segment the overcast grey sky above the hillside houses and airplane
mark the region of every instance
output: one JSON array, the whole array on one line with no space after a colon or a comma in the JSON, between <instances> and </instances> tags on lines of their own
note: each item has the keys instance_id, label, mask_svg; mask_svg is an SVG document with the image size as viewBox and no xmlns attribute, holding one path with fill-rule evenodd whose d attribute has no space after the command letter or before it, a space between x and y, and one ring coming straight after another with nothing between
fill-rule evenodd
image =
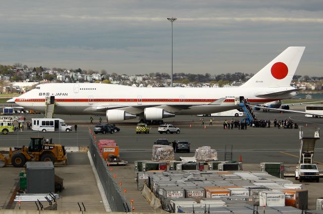
<instances>
[{"instance_id":1,"label":"overcast grey sky above the hillside houses and airplane","mask_svg":"<svg viewBox=\"0 0 323 214\"><path fill-rule=\"evenodd\" d=\"M321 0L3 0L0 64L117 74L256 73L306 46L297 75L323 76Z\"/></svg>"}]
</instances>

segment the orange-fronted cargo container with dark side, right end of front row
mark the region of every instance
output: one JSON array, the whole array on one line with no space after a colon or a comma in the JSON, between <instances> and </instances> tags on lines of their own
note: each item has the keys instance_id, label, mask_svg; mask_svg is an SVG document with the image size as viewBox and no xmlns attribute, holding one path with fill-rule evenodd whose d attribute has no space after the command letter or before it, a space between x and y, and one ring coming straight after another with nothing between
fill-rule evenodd
<instances>
[{"instance_id":1,"label":"orange-fronted cargo container with dark side, right end of front row","mask_svg":"<svg viewBox=\"0 0 323 214\"><path fill-rule=\"evenodd\" d=\"M307 209L308 191L305 189L284 189L285 205L294 206L299 209Z\"/></svg>"}]
</instances>

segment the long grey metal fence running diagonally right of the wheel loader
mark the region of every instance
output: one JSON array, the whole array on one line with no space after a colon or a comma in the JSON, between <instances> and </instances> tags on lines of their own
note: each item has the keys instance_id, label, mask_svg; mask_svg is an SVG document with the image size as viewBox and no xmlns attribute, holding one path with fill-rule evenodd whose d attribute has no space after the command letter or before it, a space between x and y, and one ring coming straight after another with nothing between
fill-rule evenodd
<instances>
[{"instance_id":1,"label":"long grey metal fence running diagonally right of the wheel loader","mask_svg":"<svg viewBox=\"0 0 323 214\"><path fill-rule=\"evenodd\" d=\"M96 139L91 130L89 138L89 151L111 210L119 212L131 211L125 197L122 196L119 185L114 181L109 167L107 167L106 162L99 153Z\"/></svg>"}]
</instances>

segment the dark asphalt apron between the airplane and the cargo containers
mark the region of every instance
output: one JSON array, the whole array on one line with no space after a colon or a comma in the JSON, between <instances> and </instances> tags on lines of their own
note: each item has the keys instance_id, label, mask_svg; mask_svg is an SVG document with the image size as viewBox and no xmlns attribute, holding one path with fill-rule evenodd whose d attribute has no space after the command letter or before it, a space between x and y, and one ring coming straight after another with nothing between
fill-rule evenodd
<instances>
[{"instance_id":1,"label":"dark asphalt apron between the airplane and the cargo containers","mask_svg":"<svg viewBox=\"0 0 323 214\"><path fill-rule=\"evenodd\" d=\"M303 107L293 107L293 109L302 110ZM27 119L35 115L27 115ZM41 115L38 117L41 117ZM88 124L90 116L83 115L56 115L56 117L65 119L70 125L76 122L79 124L78 132L32 132L23 131L8 135L0 135L0 147L14 147L29 144L29 137L44 136L52 137L55 142L66 146L88 145L88 128L93 128L92 124ZM302 114L296 113L279 113L279 112L258 112L257 117L260 119L275 118L293 119L300 125L307 124L304 127L304 134L310 136L314 134L315 127L323 126L323 119L307 118ZM216 122L213 126L208 126L209 117L205 117L206 129L203 129L199 117L196 116L178 116L169 118L165 121L174 122L181 128L180 134L159 134L157 126L153 126L149 134L136 134L135 124L126 123L119 124L121 131L115 134L97 134L97 138L115 139L120 146L121 157L132 163L136 160L150 160L151 148L153 142L158 138L167 138L170 141L178 139L186 139L191 142L191 153L176 154L176 158L180 156L193 156L194 150L201 146L211 146L218 151L219 160L224 160L225 145L233 145L233 159L238 160L242 156L244 163L260 163L260 162L284 162L286 164L295 164L298 161L299 154L299 132L298 129L278 129L278 128L250 128L247 130L238 129L223 129L222 123L225 119L232 117L216 117ZM94 117L94 120L98 117ZM102 119L104 119L102 117ZM233 119L236 119L235 117ZM240 117L240 119L242 119ZM135 122L135 121L133 121ZM192 125L190 128L189 125ZM214 125L215 124L215 125ZM314 160L322 162L323 160L323 145L318 140L316 144L316 152Z\"/></svg>"}]
</instances>

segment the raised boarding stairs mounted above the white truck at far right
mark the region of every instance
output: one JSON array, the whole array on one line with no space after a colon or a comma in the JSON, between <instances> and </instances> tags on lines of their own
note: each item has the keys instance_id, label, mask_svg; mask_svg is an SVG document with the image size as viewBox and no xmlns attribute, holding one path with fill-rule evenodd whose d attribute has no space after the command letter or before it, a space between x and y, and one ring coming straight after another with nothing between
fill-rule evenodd
<instances>
[{"instance_id":1,"label":"raised boarding stairs mounted above the white truck at far right","mask_svg":"<svg viewBox=\"0 0 323 214\"><path fill-rule=\"evenodd\" d=\"M314 132L314 137L304 137L302 127L299 128L299 139L300 149L299 149L299 164L312 164L315 142L319 139L319 128Z\"/></svg>"}]
</instances>

